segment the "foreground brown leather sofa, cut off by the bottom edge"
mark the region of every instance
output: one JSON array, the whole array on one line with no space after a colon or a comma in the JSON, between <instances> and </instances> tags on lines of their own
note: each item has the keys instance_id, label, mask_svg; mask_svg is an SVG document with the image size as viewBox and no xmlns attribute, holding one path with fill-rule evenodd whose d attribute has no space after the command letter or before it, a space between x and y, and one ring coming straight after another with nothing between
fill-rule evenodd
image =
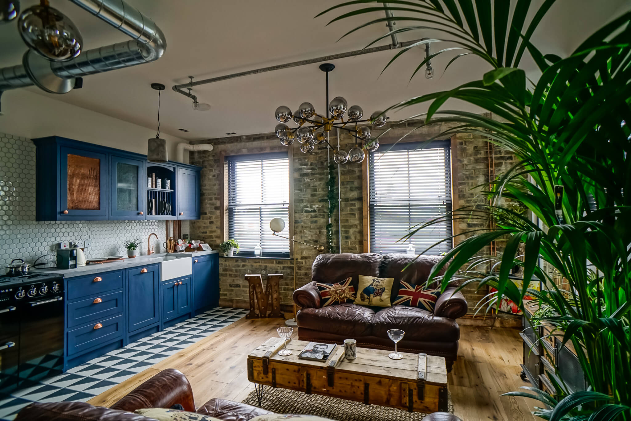
<instances>
[{"instance_id":1,"label":"foreground brown leather sofa, cut off by the bottom edge","mask_svg":"<svg viewBox=\"0 0 631 421\"><path fill-rule=\"evenodd\" d=\"M167 369L145 381L111 408L85 402L32 403L18 413L15 421L155 421L134 413L134 410L170 408L177 403L184 406L184 410L195 412L193 391L186 376L175 369ZM271 412L245 403L211 399L200 406L197 413L223 421L248 421ZM451 413L435 412L423 421L462 420Z\"/></svg>"}]
</instances>

